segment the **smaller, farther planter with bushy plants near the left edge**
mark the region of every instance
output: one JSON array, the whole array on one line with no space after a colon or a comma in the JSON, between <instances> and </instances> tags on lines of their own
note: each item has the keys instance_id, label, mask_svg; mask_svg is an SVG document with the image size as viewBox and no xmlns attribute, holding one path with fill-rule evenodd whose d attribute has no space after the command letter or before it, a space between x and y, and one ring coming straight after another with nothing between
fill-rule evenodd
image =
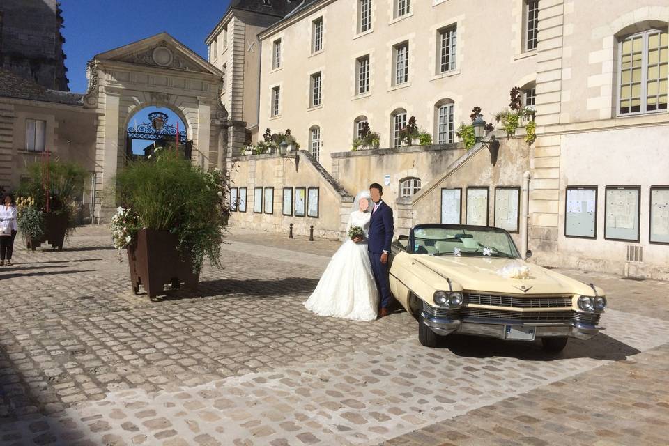
<instances>
[{"instance_id":1,"label":"smaller, farther planter with bushy plants near the left edge","mask_svg":"<svg viewBox=\"0 0 669 446\"><path fill-rule=\"evenodd\" d=\"M17 224L26 246L34 251L49 243L54 249L63 249L74 230L74 199L82 193L88 172L75 162L49 160L31 164L27 173L16 191L22 203Z\"/></svg>"}]
</instances>

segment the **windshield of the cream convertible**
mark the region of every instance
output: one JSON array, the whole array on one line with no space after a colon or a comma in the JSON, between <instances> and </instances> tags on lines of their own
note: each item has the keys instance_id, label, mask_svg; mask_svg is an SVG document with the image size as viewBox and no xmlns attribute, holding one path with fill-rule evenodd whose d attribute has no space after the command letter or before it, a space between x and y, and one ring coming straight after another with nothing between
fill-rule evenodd
<instances>
[{"instance_id":1,"label":"windshield of the cream convertible","mask_svg":"<svg viewBox=\"0 0 669 446\"><path fill-rule=\"evenodd\" d=\"M518 259L518 249L505 231L482 226L415 227L413 252L435 256L491 256Z\"/></svg>"}]
</instances>

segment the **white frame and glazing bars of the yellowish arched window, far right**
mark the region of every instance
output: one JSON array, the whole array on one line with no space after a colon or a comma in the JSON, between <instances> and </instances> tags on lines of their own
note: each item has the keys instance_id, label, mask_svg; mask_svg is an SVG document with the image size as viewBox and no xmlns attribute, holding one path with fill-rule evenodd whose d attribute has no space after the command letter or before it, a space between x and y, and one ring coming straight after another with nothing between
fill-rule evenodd
<instances>
[{"instance_id":1,"label":"white frame and glazing bars of the yellowish arched window, far right","mask_svg":"<svg viewBox=\"0 0 669 446\"><path fill-rule=\"evenodd\" d=\"M661 46L661 36L662 34L665 33L667 34L668 31L666 29L660 30L660 29L647 29L646 31L640 32L640 33L635 33L632 34L631 36L626 36L626 38L621 39L620 42L618 42L618 82L617 82L617 95L616 95L616 114L619 116L635 116L639 114L653 114L653 113L663 113L667 111L667 100L665 100L665 107L660 108L659 107L659 99L661 96L667 96L669 94L669 91L665 89L662 92L660 91L660 83L663 81L665 86L667 85L667 78L661 78L659 77L659 74L661 72L661 66L667 65L667 62L661 63L660 59L660 52L662 49L665 49L666 47ZM649 52L651 51L651 48L649 48L649 37L652 35L658 35L659 36L659 46L656 48L658 50L658 60L656 63L650 63L649 61ZM630 96L629 100L631 101L633 98L631 97L631 90L632 90L632 85L636 84L636 82L633 82L632 79L632 73L630 72L630 80L626 84L623 84L622 82L622 77L623 77L623 54L622 54L622 47L623 44L627 40L633 40L633 39L641 39L641 78L640 78L640 105L639 105L639 111L638 112L622 112L622 88L623 86L629 86L630 89ZM669 36L668 36L669 39ZM633 45L633 43L632 43ZM669 49L667 49L669 51ZM632 52L630 55L633 55L634 50L632 49ZM654 95L656 100L656 106L657 108L654 110L648 110L648 82L649 82L649 77L648 77L648 72L651 68L656 67L657 68L657 77L653 79L654 82L657 82L658 84L658 91L657 94ZM629 109L631 110L631 103Z\"/></svg>"}]
</instances>

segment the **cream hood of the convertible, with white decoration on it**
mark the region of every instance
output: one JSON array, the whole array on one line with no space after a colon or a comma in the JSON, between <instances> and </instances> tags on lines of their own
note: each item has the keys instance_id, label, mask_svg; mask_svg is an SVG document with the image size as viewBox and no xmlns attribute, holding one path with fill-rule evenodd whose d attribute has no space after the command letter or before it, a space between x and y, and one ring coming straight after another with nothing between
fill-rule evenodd
<instances>
[{"instance_id":1,"label":"cream hood of the convertible, with white decoration on it","mask_svg":"<svg viewBox=\"0 0 669 446\"><path fill-rule=\"evenodd\" d=\"M413 260L415 264L422 265L443 279L451 279L454 282L454 289L459 285L463 290L490 293L594 295L592 288L587 284L521 259L416 254ZM527 278L506 277L502 272L505 267L509 269L518 266L529 269ZM598 288L597 293L603 295L603 290Z\"/></svg>"}]
</instances>

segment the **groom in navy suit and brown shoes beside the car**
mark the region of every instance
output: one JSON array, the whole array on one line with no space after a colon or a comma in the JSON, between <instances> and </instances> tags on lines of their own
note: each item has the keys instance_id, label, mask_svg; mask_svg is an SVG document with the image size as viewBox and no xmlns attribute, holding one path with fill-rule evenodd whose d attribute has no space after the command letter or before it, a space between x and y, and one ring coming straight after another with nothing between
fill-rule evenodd
<instances>
[{"instance_id":1,"label":"groom in navy suit and brown shoes beside the car","mask_svg":"<svg viewBox=\"0 0 669 446\"><path fill-rule=\"evenodd\" d=\"M374 208L371 210L369 220L369 238L367 240L367 249L369 250L369 260L371 261L371 270L374 272L376 288L381 297L379 316L384 317L390 314L390 284L388 283L388 256L390 255L390 241L394 226L392 224L392 209L383 202L383 187L378 183L372 183L369 186L371 201L374 201Z\"/></svg>"}]
</instances>

